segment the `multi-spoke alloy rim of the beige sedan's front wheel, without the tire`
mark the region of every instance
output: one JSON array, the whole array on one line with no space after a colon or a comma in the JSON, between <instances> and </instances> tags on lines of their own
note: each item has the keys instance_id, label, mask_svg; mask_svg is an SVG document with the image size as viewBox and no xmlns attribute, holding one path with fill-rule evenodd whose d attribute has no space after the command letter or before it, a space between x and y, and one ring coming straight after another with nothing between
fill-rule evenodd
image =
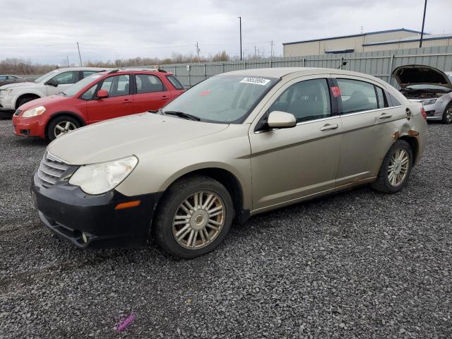
<instances>
[{"instance_id":1,"label":"multi-spoke alloy rim of the beige sedan's front wheel, without the tire","mask_svg":"<svg viewBox=\"0 0 452 339\"><path fill-rule=\"evenodd\" d=\"M197 191L174 214L172 234L186 249L201 249L218 237L225 224L225 203L212 191Z\"/></svg>"}]
</instances>

